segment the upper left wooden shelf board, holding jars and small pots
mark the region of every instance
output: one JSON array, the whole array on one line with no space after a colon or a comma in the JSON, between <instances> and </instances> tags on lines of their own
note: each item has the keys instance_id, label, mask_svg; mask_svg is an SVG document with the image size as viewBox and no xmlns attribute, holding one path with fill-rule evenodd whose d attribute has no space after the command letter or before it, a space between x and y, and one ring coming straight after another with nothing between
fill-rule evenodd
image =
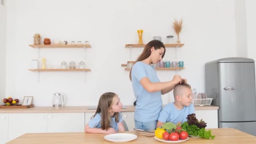
<instances>
[{"instance_id":1,"label":"upper left wooden shelf board, holding jars and small pots","mask_svg":"<svg viewBox=\"0 0 256 144\"><path fill-rule=\"evenodd\" d=\"M91 48L91 45L29 45L32 48Z\"/></svg>"}]
</instances>

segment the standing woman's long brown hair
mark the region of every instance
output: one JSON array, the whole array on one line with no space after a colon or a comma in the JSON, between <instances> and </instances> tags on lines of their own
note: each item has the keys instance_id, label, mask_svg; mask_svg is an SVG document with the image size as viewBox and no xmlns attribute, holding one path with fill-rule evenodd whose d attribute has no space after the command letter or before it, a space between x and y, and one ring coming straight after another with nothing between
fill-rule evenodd
<instances>
[{"instance_id":1,"label":"standing woman's long brown hair","mask_svg":"<svg viewBox=\"0 0 256 144\"><path fill-rule=\"evenodd\" d=\"M147 45L145 46L143 52L141 53L139 58L135 61L135 63L138 62L138 61L142 61L144 59L147 59L150 56L150 54L151 54L151 48L152 47L154 47L155 50L160 49L160 48L164 48L165 49L165 45L163 45L163 43L161 41L159 41L159 40L151 40L149 43L147 43ZM165 51L163 52L162 59L163 59L164 56L165 56ZM131 80L131 71L130 71L130 80Z\"/></svg>"}]
</instances>

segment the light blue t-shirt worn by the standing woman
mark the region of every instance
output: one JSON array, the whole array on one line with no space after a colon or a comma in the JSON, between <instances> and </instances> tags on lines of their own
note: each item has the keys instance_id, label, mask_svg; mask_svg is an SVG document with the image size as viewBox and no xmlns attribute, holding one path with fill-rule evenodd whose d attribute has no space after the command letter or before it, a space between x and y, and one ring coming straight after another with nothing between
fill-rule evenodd
<instances>
[{"instance_id":1,"label":"light blue t-shirt worn by the standing woman","mask_svg":"<svg viewBox=\"0 0 256 144\"><path fill-rule=\"evenodd\" d=\"M134 120L140 122L156 121L162 109L161 91L148 92L141 83L141 78L147 77L152 83L159 83L155 68L149 64L138 61L131 70L133 91L137 99Z\"/></svg>"}]
</instances>

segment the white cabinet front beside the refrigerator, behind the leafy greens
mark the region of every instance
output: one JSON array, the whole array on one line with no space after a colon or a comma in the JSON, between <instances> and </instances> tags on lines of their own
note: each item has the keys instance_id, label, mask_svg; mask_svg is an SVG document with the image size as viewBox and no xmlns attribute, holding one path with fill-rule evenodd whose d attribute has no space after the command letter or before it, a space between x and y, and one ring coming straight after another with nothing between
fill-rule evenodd
<instances>
[{"instance_id":1,"label":"white cabinet front beside the refrigerator, behind the leafy greens","mask_svg":"<svg viewBox=\"0 0 256 144\"><path fill-rule=\"evenodd\" d=\"M218 128L218 110L196 110L197 120L203 119L207 123L206 128Z\"/></svg>"}]
</instances>

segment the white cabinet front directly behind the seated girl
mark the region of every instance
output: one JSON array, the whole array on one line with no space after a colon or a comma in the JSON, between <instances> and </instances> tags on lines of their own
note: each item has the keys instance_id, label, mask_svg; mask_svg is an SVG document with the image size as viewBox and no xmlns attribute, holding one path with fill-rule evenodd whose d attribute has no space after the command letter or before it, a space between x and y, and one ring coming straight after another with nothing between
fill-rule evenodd
<instances>
[{"instance_id":1,"label":"white cabinet front directly behind the seated girl","mask_svg":"<svg viewBox=\"0 0 256 144\"><path fill-rule=\"evenodd\" d=\"M95 112L86 112L85 113L85 125L91 120L91 117L95 114ZM133 131L135 128L134 124L134 112L122 112L122 118L125 120L125 123L129 129L129 131Z\"/></svg>"}]
</instances>

